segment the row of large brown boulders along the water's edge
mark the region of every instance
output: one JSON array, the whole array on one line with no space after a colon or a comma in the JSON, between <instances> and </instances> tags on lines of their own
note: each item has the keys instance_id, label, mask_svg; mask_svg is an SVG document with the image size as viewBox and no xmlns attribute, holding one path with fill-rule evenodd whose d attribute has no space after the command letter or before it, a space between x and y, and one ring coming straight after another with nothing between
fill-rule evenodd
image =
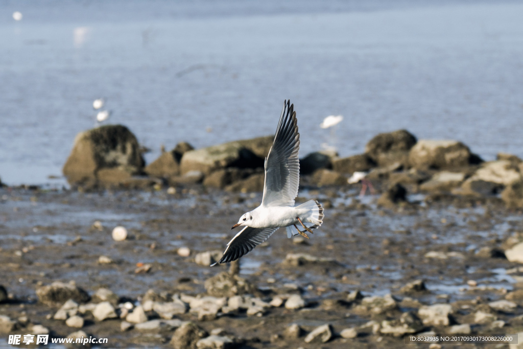
<instances>
[{"instance_id":1,"label":"row of large brown boulders along the water's edge","mask_svg":"<svg viewBox=\"0 0 523 349\"><path fill-rule=\"evenodd\" d=\"M108 125L78 134L64 165L68 181L78 187L150 187L201 184L233 192L260 192L264 158L272 136L194 149L181 142L145 166L136 137L126 127ZM454 140L417 140L406 130L380 133L363 154L339 157L314 152L300 159L302 185L349 185L355 172L368 172L380 183L386 206L405 201L408 192L493 196L502 193L510 207L523 207L523 161L498 154L484 162L467 145Z\"/></svg>"}]
</instances>

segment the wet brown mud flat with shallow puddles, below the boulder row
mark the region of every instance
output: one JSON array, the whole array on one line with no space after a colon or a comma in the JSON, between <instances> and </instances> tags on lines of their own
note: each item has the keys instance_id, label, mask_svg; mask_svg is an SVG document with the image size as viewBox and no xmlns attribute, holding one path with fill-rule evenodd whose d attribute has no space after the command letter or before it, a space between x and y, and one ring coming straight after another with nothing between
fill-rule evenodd
<instances>
[{"instance_id":1,"label":"wet brown mud flat with shallow puddles, below the boulder row","mask_svg":"<svg viewBox=\"0 0 523 349\"><path fill-rule=\"evenodd\" d=\"M117 309L126 302L143 306L152 294L169 302L174 295L188 306L172 319L208 333L222 329L214 333L233 339L224 347L400 348L409 333L523 330L523 268L504 256L523 238L521 212L495 197L451 195L411 195L406 203L382 208L377 196L358 193L358 185L301 190L298 202L323 202L321 229L310 240L287 239L279 230L240 261L239 277L253 285L263 310L231 310L231 297L217 297L209 298L219 303L214 314L200 316L191 297L207 296L206 280L228 266L211 268L195 257L223 251L236 233L230 227L259 205L260 193L0 188L0 285L8 293L0 316L15 324L10 334L41 324L51 336L65 337L79 329L53 319L61 305L42 302L36 290L73 281L93 297L87 308L100 288L117 295ZM116 226L127 228L127 240L112 239ZM179 255L180 247L190 255ZM293 295L298 306L287 307ZM165 318L155 310L145 313L149 321ZM117 315L98 321L86 311L81 330L108 337L101 347L176 347L170 342L176 325L135 324L122 331L125 317ZM298 327L289 330L293 324ZM328 331L308 337L322 325Z\"/></svg>"}]
</instances>

